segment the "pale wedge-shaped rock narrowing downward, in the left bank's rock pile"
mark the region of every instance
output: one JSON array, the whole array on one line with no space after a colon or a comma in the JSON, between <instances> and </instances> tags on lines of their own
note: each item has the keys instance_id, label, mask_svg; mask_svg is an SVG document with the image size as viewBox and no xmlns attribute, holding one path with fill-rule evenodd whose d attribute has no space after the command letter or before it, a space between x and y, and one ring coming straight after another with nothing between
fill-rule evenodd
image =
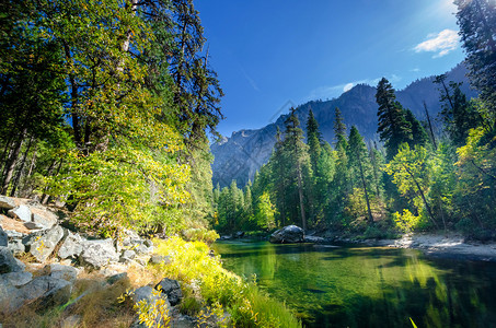
<instances>
[{"instance_id":1,"label":"pale wedge-shaped rock narrowing downward, in the left bank's rock pile","mask_svg":"<svg viewBox=\"0 0 496 328\"><path fill-rule=\"evenodd\" d=\"M44 262L54 251L57 244L62 239L65 234L60 225L53 229L32 233L22 239L30 251L37 261Z\"/></svg>"}]
</instances>

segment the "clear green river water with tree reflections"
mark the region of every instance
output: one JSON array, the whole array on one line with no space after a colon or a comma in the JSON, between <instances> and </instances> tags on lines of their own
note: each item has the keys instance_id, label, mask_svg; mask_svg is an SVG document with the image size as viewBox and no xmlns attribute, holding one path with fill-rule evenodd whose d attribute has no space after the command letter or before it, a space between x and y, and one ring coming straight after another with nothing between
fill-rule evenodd
<instances>
[{"instance_id":1,"label":"clear green river water with tree reflections","mask_svg":"<svg viewBox=\"0 0 496 328\"><path fill-rule=\"evenodd\" d=\"M496 327L496 263L414 249L218 242L224 268L256 274L305 327Z\"/></svg>"}]
</instances>

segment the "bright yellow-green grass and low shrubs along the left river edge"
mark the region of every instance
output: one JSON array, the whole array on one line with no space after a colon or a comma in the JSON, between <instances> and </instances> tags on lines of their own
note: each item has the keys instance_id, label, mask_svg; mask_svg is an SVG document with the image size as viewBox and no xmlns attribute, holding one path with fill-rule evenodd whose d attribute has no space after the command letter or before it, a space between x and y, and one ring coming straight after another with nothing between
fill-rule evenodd
<instances>
[{"instance_id":1,"label":"bright yellow-green grass and low shrubs along the left river edge","mask_svg":"<svg viewBox=\"0 0 496 328\"><path fill-rule=\"evenodd\" d=\"M205 302L203 305L212 312L226 309L235 327L301 327L285 304L223 269L219 257L212 257L206 244L178 237L154 243L157 253L169 255L172 262L153 266L153 269L183 282L185 311L193 313Z\"/></svg>"}]
</instances>

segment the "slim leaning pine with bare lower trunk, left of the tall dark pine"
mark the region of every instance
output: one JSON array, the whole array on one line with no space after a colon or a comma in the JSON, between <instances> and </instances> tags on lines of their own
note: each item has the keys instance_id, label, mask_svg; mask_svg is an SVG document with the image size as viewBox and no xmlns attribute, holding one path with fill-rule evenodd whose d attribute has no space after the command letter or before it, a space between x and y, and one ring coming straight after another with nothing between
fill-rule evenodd
<instances>
[{"instance_id":1,"label":"slim leaning pine with bare lower trunk, left of the tall dark pine","mask_svg":"<svg viewBox=\"0 0 496 328\"><path fill-rule=\"evenodd\" d=\"M360 136L358 129L353 126L351 130L349 131L348 138L348 157L349 157L349 165L356 172L358 176L361 187L364 189L364 195L367 203L367 213L369 224L373 224L373 216L372 211L370 209L370 199L369 199L369 179L371 173L371 165L369 162L369 155L367 145L364 142L364 137Z\"/></svg>"}]
</instances>

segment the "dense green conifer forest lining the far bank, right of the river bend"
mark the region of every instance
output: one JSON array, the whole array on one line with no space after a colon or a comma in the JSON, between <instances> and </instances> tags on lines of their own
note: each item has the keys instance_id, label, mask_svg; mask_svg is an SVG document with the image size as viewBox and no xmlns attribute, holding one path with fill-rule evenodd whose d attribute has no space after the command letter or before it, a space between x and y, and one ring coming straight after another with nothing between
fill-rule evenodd
<instances>
[{"instance_id":1,"label":"dense green conifer forest lining the far bank, right of the river bend","mask_svg":"<svg viewBox=\"0 0 496 328\"><path fill-rule=\"evenodd\" d=\"M419 121L377 85L380 142L365 142L335 108L335 140L319 131L312 112L307 136L292 108L270 160L253 184L214 190L215 226L224 233L288 224L367 238L414 231L459 231L492 239L496 222L496 13L491 1L455 1L471 86L436 77L440 117ZM434 120L443 131L434 132Z\"/></svg>"}]
</instances>

